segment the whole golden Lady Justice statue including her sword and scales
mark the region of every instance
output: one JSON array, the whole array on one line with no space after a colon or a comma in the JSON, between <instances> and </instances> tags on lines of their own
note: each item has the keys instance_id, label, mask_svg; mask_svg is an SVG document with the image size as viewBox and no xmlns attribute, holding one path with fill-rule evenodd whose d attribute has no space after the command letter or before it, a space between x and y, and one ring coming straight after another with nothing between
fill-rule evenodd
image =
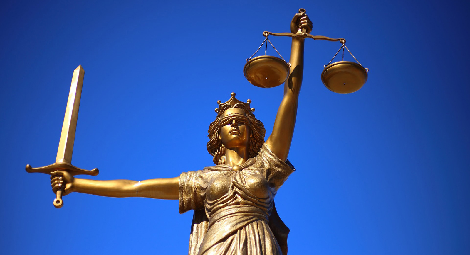
<instances>
[{"instance_id":1,"label":"whole golden Lady Justice statue including her sword and scales","mask_svg":"<svg viewBox=\"0 0 470 255\"><path fill-rule=\"evenodd\" d=\"M98 169L87 171L71 165L84 75L79 66L72 78L56 163L41 168L27 165L26 171L51 175L57 208L63 205L62 196L71 192L179 200L180 213L194 211L189 255L286 255L289 228L276 212L274 197L295 171L287 157L303 79L305 38L340 41L340 50L345 47L343 38L312 36L311 31L312 22L305 9L299 9L290 22L290 33L263 33L266 46L268 35L292 37L289 63L261 56L247 59L244 67L246 78L256 86L274 87L285 82L272 133L265 140L266 129L253 114L251 100L239 101L231 93L227 102L217 102L217 116L209 125L207 150L214 166L169 179L75 178L77 174L98 174ZM325 66L322 80L334 92L351 93L367 81L366 69L340 61Z\"/></svg>"}]
</instances>

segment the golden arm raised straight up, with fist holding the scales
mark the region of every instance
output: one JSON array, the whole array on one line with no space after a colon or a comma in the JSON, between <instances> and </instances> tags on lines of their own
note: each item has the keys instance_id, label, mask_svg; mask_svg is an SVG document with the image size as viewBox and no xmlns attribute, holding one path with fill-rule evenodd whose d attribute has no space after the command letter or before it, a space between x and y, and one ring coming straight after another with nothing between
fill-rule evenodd
<instances>
[{"instance_id":1,"label":"golden arm raised straight up, with fist holding the scales","mask_svg":"<svg viewBox=\"0 0 470 255\"><path fill-rule=\"evenodd\" d=\"M291 33L312 31L312 22L305 13L298 13L290 22ZM293 37L290 49L290 74L284 84L284 98L277 111L273 132L266 140L266 145L282 160L287 160L290 142L294 134L297 116L298 95L304 75L304 37Z\"/></svg>"}]
</instances>

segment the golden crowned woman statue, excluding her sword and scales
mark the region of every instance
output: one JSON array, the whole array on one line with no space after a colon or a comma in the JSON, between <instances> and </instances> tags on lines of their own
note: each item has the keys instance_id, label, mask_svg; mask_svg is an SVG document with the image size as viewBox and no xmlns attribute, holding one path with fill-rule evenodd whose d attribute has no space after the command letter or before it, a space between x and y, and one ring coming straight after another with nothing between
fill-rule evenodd
<instances>
[{"instance_id":1,"label":"golden crowned woman statue, excluding her sword and scales","mask_svg":"<svg viewBox=\"0 0 470 255\"><path fill-rule=\"evenodd\" d=\"M311 30L305 12L294 15L291 33ZM78 179L56 170L51 173L53 191L179 200L180 213L194 210L190 255L286 255L289 229L277 216L273 199L295 170L287 156L303 77L304 40L292 37L290 73L266 142L266 130L253 115L251 100L241 102L232 93L227 102L218 101L217 117L209 126L207 150L216 165L179 177L141 181Z\"/></svg>"}]
</instances>

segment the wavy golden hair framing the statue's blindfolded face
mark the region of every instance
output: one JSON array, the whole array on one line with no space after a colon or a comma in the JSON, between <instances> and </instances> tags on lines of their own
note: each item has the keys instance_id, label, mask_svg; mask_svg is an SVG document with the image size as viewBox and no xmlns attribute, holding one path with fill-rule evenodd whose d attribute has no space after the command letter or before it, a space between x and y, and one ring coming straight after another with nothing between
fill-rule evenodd
<instances>
[{"instance_id":1,"label":"wavy golden hair framing the statue's blindfolded face","mask_svg":"<svg viewBox=\"0 0 470 255\"><path fill-rule=\"evenodd\" d=\"M248 157L254 158L258 155L259 149L263 146L264 137L266 135L266 129L264 128L263 122L256 119L255 115L251 112L247 112L243 107L236 107L242 109L246 113L246 117L248 117L249 126L251 130L251 137L248 142ZM227 110L226 108L224 110ZM223 111L225 112L225 111ZM217 117L214 121L209 125L209 130L207 135L209 137L209 142L207 142L207 151L214 157L212 160L214 164L220 165L225 164L225 146L220 141L220 120L222 120L222 111L217 114Z\"/></svg>"}]
</instances>

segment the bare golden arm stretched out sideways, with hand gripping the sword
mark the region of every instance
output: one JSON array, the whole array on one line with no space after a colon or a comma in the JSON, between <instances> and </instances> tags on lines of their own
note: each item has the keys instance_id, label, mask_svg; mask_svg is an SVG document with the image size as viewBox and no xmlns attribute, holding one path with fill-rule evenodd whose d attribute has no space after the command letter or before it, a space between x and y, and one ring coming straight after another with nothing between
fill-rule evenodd
<instances>
[{"instance_id":1,"label":"bare golden arm stretched out sideways, with hand gripping the sword","mask_svg":"<svg viewBox=\"0 0 470 255\"><path fill-rule=\"evenodd\" d=\"M87 180L74 178L70 173L55 171L51 176L52 190L65 185L63 195L71 192L110 197L149 197L179 199L179 177L151 180Z\"/></svg>"}]
</instances>

